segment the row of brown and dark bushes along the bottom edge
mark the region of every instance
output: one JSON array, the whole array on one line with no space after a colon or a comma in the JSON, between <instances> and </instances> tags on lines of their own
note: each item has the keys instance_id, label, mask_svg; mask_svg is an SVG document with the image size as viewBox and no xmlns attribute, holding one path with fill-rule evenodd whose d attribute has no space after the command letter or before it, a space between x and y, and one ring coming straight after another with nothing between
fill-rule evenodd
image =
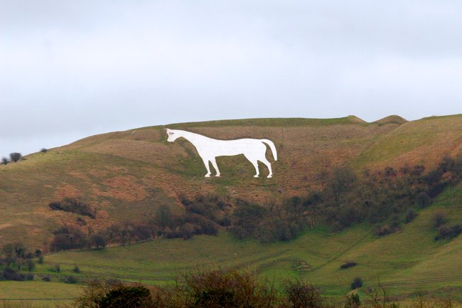
<instances>
[{"instance_id":1,"label":"row of brown and dark bushes along the bottom edge","mask_svg":"<svg viewBox=\"0 0 462 308\"><path fill-rule=\"evenodd\" d=\"M361 281L362 282L362 281ZM292 280L284 292L275 292L272 284L256 275L236 270L192 272L167 287L124 284L118 280L92 281L72 308L397 308L387 290L363 287L362 299L351 292L341 302L322 297L321 290ZM335 300L335 302L333 301ZM419 297L402 307L455 307L451 299L443 301Z\"/></svg>"}]
</instances>

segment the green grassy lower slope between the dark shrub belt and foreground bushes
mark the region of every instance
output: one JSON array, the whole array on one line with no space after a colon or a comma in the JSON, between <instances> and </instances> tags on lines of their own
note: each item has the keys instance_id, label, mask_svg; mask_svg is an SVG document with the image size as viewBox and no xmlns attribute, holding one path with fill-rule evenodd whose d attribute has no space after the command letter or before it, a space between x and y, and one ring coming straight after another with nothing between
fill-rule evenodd
<instances>
[{"instance_id":1,"label":"green grassy lower slope between the dark shrub belt and foreground bushes","mask_svg":"<svg viewBox=\"0 0 462 308\"><path fill-rule=\"evenodd\" d=\"M412 223L383 238L372 235L368 225L341 233L308 230L289 243L269 244L237 240L223 231L190 240L50 254L35 272L51 275L52 282L2 282L0 297L72 297L79 286L60 282L68 275L81 281L104 277L165 285L190 270L239 268L256 272L276 286L291 278L306 280L321 287L326 296L342 297L350 292L353 278L361 277L365 286L380 282L392 295L413 297L420 292L462 300L462 237L434 240L431 213L438 208L446 212L449 223L461 223L462 187L449 188L433 206L419 211ZM358 265L341 270L340 265L348 261ZM50 270L56 263L60 273ZM72 272L75 265L80 274Z\"/></svg>"}]
</instances>

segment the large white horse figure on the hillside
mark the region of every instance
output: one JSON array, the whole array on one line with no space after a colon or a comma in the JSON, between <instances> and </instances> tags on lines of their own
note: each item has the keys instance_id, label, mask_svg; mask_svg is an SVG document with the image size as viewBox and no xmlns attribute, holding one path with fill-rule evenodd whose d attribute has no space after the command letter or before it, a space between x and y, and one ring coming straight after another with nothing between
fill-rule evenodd
<instances>
[{"instance_id":1,"label":"large white horse figure on the hillside","mask_svg":"<svg viewBox=\"0 0 462 308\"><path fill-rule=\"evenodd\" d=\"M244 154L245 158L254 165L256 172L254 175L255 178L259 176L258 161L262 161L263 164L267 165L269 170L267 177L271 178L273 176L271 164L265 156L267 147L264 144L269 145L275 161L277 160L277 153L274 143L269 139L243 138L234 140L218 140L179 129L166 129L166 132L168 134L167 141L169 142L174 142L176 139L183 137L194 145L198 154L204 161L205 168L207 169L205 177L207 178L210 177L209 161L212 163L215 171L217 171L215 176L220 176L220 170L218 170L215 158L217 156L234 156L239 154Z\"/></svg>"}]
</instances>

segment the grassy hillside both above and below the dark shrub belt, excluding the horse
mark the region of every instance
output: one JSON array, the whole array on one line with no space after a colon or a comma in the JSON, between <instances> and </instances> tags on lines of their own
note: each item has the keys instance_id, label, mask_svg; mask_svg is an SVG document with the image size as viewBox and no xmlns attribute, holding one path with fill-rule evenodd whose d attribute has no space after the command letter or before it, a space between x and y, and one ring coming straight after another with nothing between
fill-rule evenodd
<instances>
[{"instance_id":1,"label":"grassy hillside both above and below the dark shrub belt, excluding the horse","mask_svg":"<svg viewBox=\"0 0 462 308\"><path fill-rule=\"evenodd\" d=\"M205 168L185 140L166 142L163 129L187 129L218 139L269 138L278 150L274 177L254 179L252 166L241 156L220 157L221 178L205 179ZM391 116L367 123L357 117L339 119L249 119L170 124L112 132L81 139L64 147L26 156L0 166L0 245L21 240L28 248L45 248L53 230L75 224L75 213L52 211L51 201L80 198L97 209L85 218L85 230L112 223L153 218L163 204L181 208L181 195L215 192L248 200L279 200L302 196L323 185L323 174L335 166L365 169L404 164L432 167L445 154L462 154L462 115L407 122ZM268 155L269 157L269 155ZM271 160L272 161L272 160ZM54 262L65 271L78 264L82 276L102 272L127 280L163 283L195 267L249 267L268 277L301 277L344 294L354 277L366 284L399 282L393 292L460 291L461 238L434 240L431 213L444 208L451 222L462 222L462 188L448 188L430 208L419 212L402 230L376 238L370 225L331 234L307 230L289 243L259 244L237 240L225 231L191 240L154 240L106 250L45 256L38 273ZM358 265L340 270L354 261ZM63 274L64 275L64 274ZM398 286L399 283L397 284ZM441 291L441 290L439 290ZM443 291L441 291L443 292Z\"/></svg>"}]
</instances>

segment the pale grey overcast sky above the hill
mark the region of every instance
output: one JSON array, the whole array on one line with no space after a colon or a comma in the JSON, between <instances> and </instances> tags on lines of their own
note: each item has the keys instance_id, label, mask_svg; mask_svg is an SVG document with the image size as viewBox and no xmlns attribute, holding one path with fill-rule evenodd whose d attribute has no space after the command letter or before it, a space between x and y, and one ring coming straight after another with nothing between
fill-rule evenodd
<instances>
[{"instance_id":1,"label":"pale grey overcast sky above the hill","mask_svg":"<svg viewBox=\"0 0 462 308\"><path fill-rule=\"evenodd\" d=\"M0 0L0 156L248 117L461 113L462 1Z\"/></svg>"}]
</instances>

